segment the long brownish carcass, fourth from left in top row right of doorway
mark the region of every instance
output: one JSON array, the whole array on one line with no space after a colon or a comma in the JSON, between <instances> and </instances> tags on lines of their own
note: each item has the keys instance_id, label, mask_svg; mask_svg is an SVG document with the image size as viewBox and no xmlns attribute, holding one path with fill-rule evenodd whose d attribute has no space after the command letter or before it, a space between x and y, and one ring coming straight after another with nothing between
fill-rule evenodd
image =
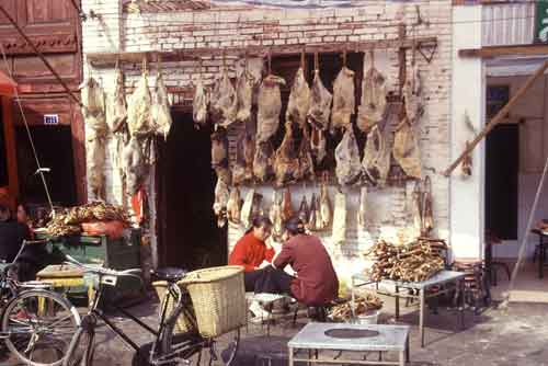
<instances>
[{"instance_id":1,"label":"long brownish carcass, fourth from left in top row right of doorway","mask_svg":"<svg viewBox=\"0 0 548 366\"><path fill-rule=\"evenodd\" d=\"M269 141L277 131L279 113L282 111L282 94L279 85L285 85L285 80L270 75L264 78L259 89L256 111L256 142Z\"/></svg>"}]
</instances>

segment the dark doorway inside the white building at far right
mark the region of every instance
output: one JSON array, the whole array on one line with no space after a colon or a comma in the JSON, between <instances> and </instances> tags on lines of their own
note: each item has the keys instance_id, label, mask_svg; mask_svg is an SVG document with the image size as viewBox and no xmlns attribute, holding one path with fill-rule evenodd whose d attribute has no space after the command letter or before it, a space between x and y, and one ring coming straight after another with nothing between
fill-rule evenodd
<instances>
[{"instance_id":1,"label":"dark doorway inside the white building at far right","mask_svg":"<svg viewBox=\"0 0 548 366\"><path fill-rule=\"evenodd\" d=\"M487 136L486 229L517 239L520 126L499 125Z\"/></svg>"}]
</instances>

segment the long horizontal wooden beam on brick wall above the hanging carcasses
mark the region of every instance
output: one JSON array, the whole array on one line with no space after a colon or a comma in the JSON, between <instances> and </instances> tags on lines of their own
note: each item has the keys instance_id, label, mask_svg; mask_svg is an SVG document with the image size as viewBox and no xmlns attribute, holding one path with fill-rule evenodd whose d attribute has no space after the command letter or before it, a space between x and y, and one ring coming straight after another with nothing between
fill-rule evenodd
<instances>
[{"instance_id":1,"label":"long horizontal wooden beam on brick wall above the hanging carcasses","mask_svg":"<svg viewBox=\"0 0 548 366\"><path fill-rule=\"evenodd\" d=\"M381 48L403 48L413 47L413 42L416 47L421 45L434 45L437 43L436 37L419 37L414 41L399 38L396 39L378 39L367 42L349 42L349 43L322 43L322 44L295 44L295 45L278 45L278 46L248 46L248 47L227 47L227 48L180 48L171 52L144 52L144 53L91 53L87 54L88 60L93 67L111 67L116 64L116 60L122 62L138 64L146 57L149 62L157 62L159 57L162 62L196 60L208 57L266 57L269 52L272 55L300 55L306 46L306 53L313 55L319 54L336 54L342 53L344 47L349 52L364 52L368 49Z\"/></svg>"}]
</instances>

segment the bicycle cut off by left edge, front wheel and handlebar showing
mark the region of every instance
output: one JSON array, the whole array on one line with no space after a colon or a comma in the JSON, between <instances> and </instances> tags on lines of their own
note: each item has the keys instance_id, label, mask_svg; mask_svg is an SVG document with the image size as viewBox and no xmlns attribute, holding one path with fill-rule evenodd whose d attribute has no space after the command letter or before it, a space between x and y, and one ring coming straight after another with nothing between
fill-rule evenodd
<instances>
[{"instance_id":1,"label":"bicycle cut off by left edge, front wheel and handlebar showing","mask_svg":"<svg viewBox=\"0 0 548 366\"><path fill-rule=\"evenodd\" d=\"M1 263L0 341L26 365L59 366L80 325L80 314L47 284L20 283L13 276L25 247L46 242L24 240L13 262Z\"/></svg>"}]
</instances>

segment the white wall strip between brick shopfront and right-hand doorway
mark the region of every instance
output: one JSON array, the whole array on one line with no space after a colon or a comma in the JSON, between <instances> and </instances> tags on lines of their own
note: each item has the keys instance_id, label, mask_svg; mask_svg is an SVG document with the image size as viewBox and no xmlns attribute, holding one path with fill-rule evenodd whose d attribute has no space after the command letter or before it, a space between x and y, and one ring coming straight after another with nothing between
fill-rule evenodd
<instances>
[{"instance_id":1,"label":"white wall strip between brick shopfront and right-hand doorway","mask_svg":"<svg viewBox=\"0 0 548 366\"><path fill-rule=\"evenodd\" d=\"M483 125L483 67L480 58L459 58L461 48L481 47L481 5L453 8L453 82L450 157L456 159L469 134L465 112L477 130ZM481 258L483 243L484 142L473 150L472 175L463 179L460 167L450 176L450 242L455 258Z\"/></svg>"}]
</instances>

